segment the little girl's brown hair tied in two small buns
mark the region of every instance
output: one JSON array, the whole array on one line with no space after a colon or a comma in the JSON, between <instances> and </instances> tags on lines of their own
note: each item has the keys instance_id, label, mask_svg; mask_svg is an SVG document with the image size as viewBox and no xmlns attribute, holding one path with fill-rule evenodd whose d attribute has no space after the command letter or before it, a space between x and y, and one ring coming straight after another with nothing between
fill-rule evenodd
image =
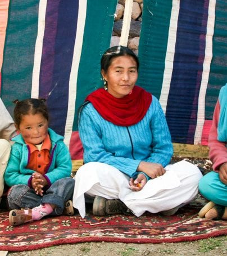
<instances>
[{"instance_id":1,"label":"little girl's brown hair tied in two small buns","mask_svg":"<svg viewBox=\"0 0 227 256\"><path fill-rule=\"evenodd\" d=\"M22 120L23 115L28 114L37 114L40 113L44 116L45 119L47 119L47 122L49 121L49 115L46 105L46 100L44 98L27 98L26 100L15 100L13 103L16 104L14 111L13 111L13 117L14 122L17 125L17 127L20 127L20 123Z\"/></svg>"}]
</instances>

